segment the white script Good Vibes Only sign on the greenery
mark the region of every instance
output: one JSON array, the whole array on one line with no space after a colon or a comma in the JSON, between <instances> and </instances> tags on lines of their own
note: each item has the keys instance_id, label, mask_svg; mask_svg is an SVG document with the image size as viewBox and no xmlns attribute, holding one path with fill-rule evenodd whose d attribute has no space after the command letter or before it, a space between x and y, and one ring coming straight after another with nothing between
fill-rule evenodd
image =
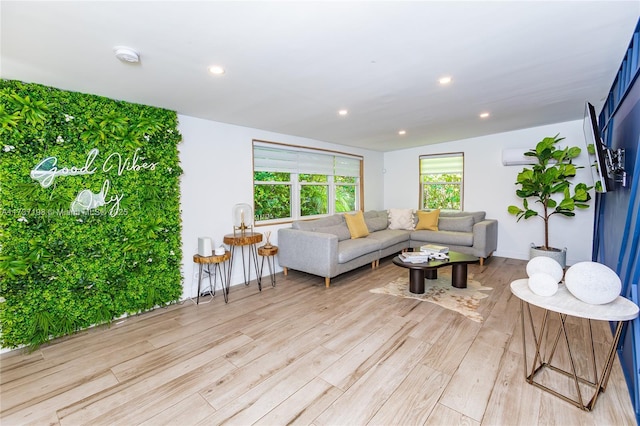
<instances>
[{"instance_id":1,"label":"white script Good Vibes Only sign on the greenery","mask_svg":"<svg viewBox=\"0 0 640 426\"><path fill-rule=\"evenodd\" d=\"M92 175L99 168L104 173L109 173L113 170L118 176L122 176L127 172L135 173L144 170L155 170L158 163L146 162L143 157L139 156L138 151L140 151L140 148L137 148L131 157L123 157L118 152L109 154L102 162L102 167L99 167L99 164L98 166L94 164L100 152L97 148L89 151L84 166L81 167L60 167L57 157L47 157L31 170L31 177L37 180L43 188L48 188L53 185L58 177ZM110 188L111 181L105 179L98 193L92 192L90 189L83 189L71 203L71 212L86 213L98 207L111 206L109 215L116 216L120 211L120 201L122 201L124 194L110 194Z\"/></svg>"}]
</instances>

